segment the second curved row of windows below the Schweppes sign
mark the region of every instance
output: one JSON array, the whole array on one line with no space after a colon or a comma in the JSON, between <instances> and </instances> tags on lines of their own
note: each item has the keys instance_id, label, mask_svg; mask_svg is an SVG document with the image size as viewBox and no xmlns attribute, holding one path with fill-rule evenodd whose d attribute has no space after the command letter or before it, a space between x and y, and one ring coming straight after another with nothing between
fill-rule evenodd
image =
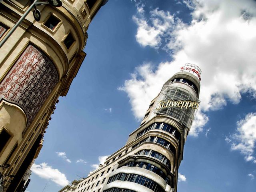
<instances>
[{"instance_id":1,"label":"second curved row of windows below the Schweppes sign","mask_svg":"<svg viewBox=\"0 0 256 192\"><path fill-rule=\"evenodd\" d=\"M142 144L144 142L154 142L154 143L159 143L160 145L165 146L174 154L174 158L175 158L175 155L176 155L175 147L170 142L166 141L165 139L162 139L162 138L156 137L156 136L149 136L149 137L145 138L144 140L141 140L140 142L138 142L134 146L132 146L132 149L136 148L137 146L139 146L140 144Z\"/></svg>"}]
</instances>

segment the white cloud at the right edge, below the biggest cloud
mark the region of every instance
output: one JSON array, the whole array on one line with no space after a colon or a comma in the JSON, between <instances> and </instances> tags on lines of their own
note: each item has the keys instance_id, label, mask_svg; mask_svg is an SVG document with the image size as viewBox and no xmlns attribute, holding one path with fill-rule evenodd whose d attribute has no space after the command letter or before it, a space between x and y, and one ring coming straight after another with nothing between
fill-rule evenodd
<instances>
[{"instance_id":1,"label":"white cloud at the right edge, below the biggest cloud","mask_svg":"<svg viewBox=\"0 0 256 192\"><path fill-rule=\"evenodd\" d=\"M231 150L238 150L246 161L256 163L254 148L256 144L256 113L249 113L237 122L236 133L225 139L231 142Z\"/></svg>"}]
</instances>

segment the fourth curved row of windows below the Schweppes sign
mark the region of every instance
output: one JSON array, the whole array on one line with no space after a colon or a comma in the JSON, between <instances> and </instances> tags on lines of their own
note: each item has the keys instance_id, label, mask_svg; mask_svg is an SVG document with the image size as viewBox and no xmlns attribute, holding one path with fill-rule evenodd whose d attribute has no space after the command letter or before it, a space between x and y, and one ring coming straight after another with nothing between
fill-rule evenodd
<instances>
[{"instance_id":1,"label":"fourth curved row of windows below the Schweppes sign","mask_svg":"<svg viewBox=\"0 0 256 192\"><path fill-rule=\"evenodd\" d=\"M156 166L154 166L154 165L152 165L152 164L150 164L150 163L145 163L145 162L133 162L133 161L130 161L130 162L126 163L124 166L128 166L128 167L140 167L140 168L144 168L144 169L146 169L146 170L152 171L152 172L158 174L160 177L162 177L162 178L165 180L165 182L166 182L168 185L170 185L170 182L171 182L171 181L170 181L170 179L166 176L166 174L164 174L164 172L163 172L160 168L158 168L158 167L156 167Z\"/></svg>"}]
</instances>

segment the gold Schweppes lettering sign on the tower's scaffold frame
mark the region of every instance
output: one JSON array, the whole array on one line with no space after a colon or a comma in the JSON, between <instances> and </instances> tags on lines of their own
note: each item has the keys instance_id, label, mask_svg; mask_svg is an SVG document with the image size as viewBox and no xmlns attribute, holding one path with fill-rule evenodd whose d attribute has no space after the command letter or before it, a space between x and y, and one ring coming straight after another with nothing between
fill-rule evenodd
<instances>
[{"instance_id":1,"label":"gold Schweppes lettering sign on the tower's scaffold frame","mask_svg":"<svg viewBox=\"0 0 256 192\"><path fill-rule=\"evenodd\" d=\"M178 101L178 100L168 100L168 101L160 101L158 106L156 107L157 110L160 110L161 108L166 107L179 107L179 108L192 108L192 109L198 109L199 102L196 101Z\"/></svg>"}]
</instances>

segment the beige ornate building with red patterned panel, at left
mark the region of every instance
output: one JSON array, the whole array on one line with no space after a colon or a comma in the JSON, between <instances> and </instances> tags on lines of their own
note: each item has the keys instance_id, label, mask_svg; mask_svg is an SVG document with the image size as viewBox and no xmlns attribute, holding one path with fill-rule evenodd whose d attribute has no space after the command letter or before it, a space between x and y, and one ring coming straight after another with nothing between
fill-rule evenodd
<instances>
[{"instance_id":1,"label":"beige ornate building with red patterned panel, at left","mask_svg":"<svg viewBox=\"0 0 256 192\"><path fill-rule=\"evenodd\" d=\"M88 26L108 0L61 0L60 7L52 6L60 0L1 0L0 42L36 1L44 2L36 6L40 20L29 11L0 47L0 191L5 192L24 191L58 97L66 96L86 56Z\"/></svg>"}]
</instances>

